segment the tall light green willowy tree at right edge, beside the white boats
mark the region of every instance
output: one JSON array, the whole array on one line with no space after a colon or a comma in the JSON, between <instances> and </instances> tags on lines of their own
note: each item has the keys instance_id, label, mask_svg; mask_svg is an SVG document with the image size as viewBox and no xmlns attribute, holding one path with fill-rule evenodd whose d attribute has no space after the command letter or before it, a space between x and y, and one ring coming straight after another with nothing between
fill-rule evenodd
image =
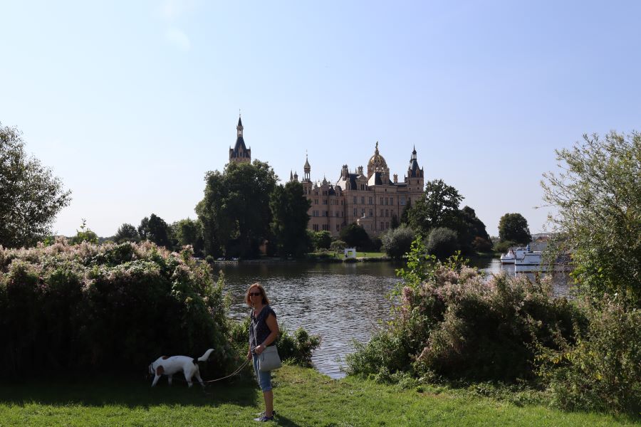
<instances>
[{"instance_id":1,"label":"tall light green willowy tree at right edge, beside the white boats","mask_svg":"<svg viewBox=\"0 0 641 427\"><path fill-rule=\"evenodd\" d=\"M560 174L544 174L543 199L573 275L594 297L618 294L641 306L641 133L583 135L556 151Z\"/></svg>"}]
</instances>

